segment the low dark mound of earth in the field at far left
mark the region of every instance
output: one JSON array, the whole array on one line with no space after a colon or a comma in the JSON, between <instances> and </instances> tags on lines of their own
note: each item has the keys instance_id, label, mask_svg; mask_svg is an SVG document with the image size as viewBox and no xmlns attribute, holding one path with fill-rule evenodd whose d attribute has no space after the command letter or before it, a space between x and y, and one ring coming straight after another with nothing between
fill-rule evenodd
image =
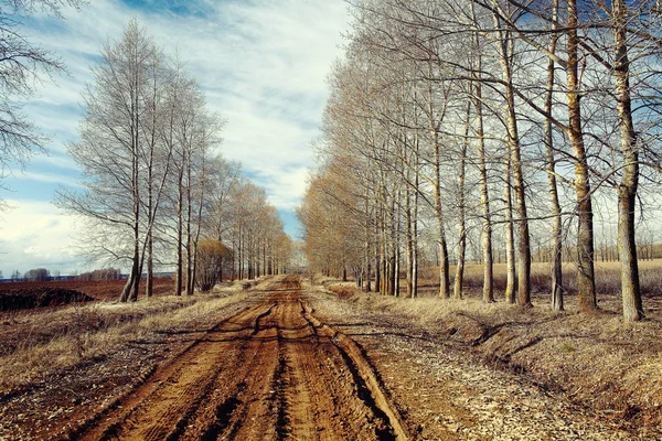
<instances>
[{"instance_id":1,"label":"low dark mound of earth in the field at far left","mask_svg":"<svg viewBox=\"0 0 662 441\"><path fill-rule=\"evenodd\" d=\"M0 311L29 310L57 306L74 302L89 302L94 298L76 290L64 288L30 288L0 291Z\"/></svg>"}]
</instances>

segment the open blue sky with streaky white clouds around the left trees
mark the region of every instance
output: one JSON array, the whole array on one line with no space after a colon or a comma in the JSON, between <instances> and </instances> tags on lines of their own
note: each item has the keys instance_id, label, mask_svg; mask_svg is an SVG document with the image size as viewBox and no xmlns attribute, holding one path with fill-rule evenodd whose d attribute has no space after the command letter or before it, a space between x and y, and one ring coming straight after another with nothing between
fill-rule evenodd
<instances>
[{"instance_id":1,"label":"open blue sky with streaky white clouds around the left trees","mask_svg":"<svg viewBox=\"0 0 662 441\"><path fill-rule=\"evenodd\" d=\"M66 154L77 137L81 92L99 47L131 18L168 52L180 52L212 111L227 119L222 153L243 164L266 189L292 237L293 209L313 165L309 143L319 136L328 96L325 77L342 55L349 26L342 0L90 0L65 20L36 15L23 25L29 40L62 57L70 73L44 78L25 114L51 138L4 180L0 197L0 270L4 277L45 267L62 273L89 269L75 249L78 226L51 203L60 183L76 185L79 171Z\"/></svg>"}]
</instances>

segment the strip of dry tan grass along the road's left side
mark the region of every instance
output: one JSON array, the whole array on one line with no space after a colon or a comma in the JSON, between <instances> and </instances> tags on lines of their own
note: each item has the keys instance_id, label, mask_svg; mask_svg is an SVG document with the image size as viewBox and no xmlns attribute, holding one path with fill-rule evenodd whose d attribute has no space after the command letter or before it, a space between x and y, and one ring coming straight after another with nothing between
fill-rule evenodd
<instances>
[{"instance_id":1,"label":"strip of dry tan grass along the road's left side","mask_svg":"<svg viewBox=\"0 0 662 441\"><path fill-rule=\"evenodd\" d=\"M221 309L246 297L241 284L235 283L211 294L162 295L136 303L97 302L2 314L0 395L55 369L103 359L128 343L213 323Z\"/></svg>"}]
</instances>

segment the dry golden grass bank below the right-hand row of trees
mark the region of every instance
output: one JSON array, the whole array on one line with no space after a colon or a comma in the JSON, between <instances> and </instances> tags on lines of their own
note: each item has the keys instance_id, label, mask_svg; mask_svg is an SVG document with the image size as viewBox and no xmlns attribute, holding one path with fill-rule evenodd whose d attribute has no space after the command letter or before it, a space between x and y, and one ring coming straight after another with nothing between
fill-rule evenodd
<instances>
[{"instance_id":1,"label":"dry golden grass bank below the right-hand row of trees","mask_svg":"<svg viewBox=\"0 0 662 441\"><path fill-rule=\"evenodd\" d=\"M465 300L402 299L357 292L351 283L317 279L352 309L414 327L470 351L483 363L520 373L543 388L563 390L606 419L662 429L662 322L626 324L602 298L594 315L553 312L547 299L523 310L478 295ZM574 299L569 298L573 311Z\"/></svg>"}]
</instances>

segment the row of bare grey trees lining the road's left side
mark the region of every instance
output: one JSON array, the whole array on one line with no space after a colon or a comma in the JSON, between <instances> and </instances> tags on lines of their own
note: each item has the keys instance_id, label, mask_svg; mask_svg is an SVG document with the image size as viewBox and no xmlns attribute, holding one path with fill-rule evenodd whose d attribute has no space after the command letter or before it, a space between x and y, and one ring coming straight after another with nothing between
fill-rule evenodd
<instances>
[{"instance_id":1,"label":"row of bare grey trees lining the road's left side","mask_svg":"<svg viewBox=\"0 0 662 441\"><path fill-rule=\"evenodd\" d=\"M204 238L232 244L233 277L281 270L282 223L264 190L217 153L224 121L182 63L136 21L100 55L84 92L81 139L68 146L84 190L61 187L56 204L81 216L92 260L128 263L120 299L137 299L143 271L151 295L157 266L175 269L175 293L192 294Z\"/></svg>"}]
</instances>

